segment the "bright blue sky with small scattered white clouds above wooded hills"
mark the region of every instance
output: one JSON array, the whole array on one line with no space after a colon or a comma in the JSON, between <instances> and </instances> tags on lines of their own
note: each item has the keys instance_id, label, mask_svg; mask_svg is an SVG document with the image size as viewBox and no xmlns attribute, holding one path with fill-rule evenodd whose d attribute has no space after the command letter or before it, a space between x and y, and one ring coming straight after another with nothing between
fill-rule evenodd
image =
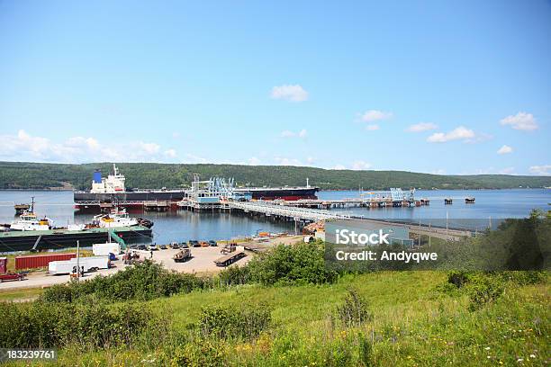
<instances>
[{"instance_id":1,"label":"bright blue sky with small scattered white clouds above wooded hills","mask_svg":"<svg viewBox=\"0 0 551 367\"><path fill-rule=\"evenodd\" d=\"M0 160L551 175L551 2L0 0Z\"/></svg>"}]
</instances>

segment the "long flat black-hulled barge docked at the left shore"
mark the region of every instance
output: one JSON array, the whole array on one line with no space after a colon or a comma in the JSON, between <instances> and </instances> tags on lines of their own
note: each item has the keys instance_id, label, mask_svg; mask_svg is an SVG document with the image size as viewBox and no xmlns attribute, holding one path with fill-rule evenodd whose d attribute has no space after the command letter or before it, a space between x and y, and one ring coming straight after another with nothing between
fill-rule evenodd
<instances>
[{"instance_id":1,"label":"long flat black-hulled barge docked at the left shore","mask_svg":"<svg viewBox=\"0 0 551 367\"><path fill-rule=\"evenodd\" d=\"M120 228L84 228L77 230L48 229L0 232L0 252L39 251L63 247L91 246L119 237L126 243L139 242L152 237L151 228L144 226Z\"/></svg>"}]
</instances>

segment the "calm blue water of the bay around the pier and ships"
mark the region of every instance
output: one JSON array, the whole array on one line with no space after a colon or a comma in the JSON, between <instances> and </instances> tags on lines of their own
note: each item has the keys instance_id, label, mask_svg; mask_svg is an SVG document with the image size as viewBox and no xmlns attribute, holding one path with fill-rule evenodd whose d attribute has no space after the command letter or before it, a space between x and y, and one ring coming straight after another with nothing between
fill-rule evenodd
<instances>
[{"instance_id":1,"label":"calm blue water of the bay around the pier and ships","mask_svg":"<svg viewBox=\"0 0 551 367\"><path fill-rule=\"evenodd\" d=\"M72 192L18 192L0 191L0 223L14 220L14 202L30 202L31 196L37 202L35 211L39 216L54 219L57 226L68 223L86 223L93 215L78 214L73 209ZM321 199L344 199L358 196L357 191L320 192ZM429 206L416 208L351 208L334 211L355 213L375 219L445 219L453 224L454 219L489 220L500 218L521 218L530 210L549 210L551 190L482 190L482 191L418 191L416 198L428 198ZM474 196L475 204L465 204L465 197ZM444 198L454 199L452 205L444 205ZM255 235L258 231L293 232L294 225L285 222L250 218L229 213L194 213L186 210L177 212L147 212L131 214L155 222L154 241L168 243L189 239L228 239ZM456 221L457 222L457 221ZM450 224L450 226L451 226ZM456 226L457 227L457 226Z\"/></svg>"}]
</instances>

